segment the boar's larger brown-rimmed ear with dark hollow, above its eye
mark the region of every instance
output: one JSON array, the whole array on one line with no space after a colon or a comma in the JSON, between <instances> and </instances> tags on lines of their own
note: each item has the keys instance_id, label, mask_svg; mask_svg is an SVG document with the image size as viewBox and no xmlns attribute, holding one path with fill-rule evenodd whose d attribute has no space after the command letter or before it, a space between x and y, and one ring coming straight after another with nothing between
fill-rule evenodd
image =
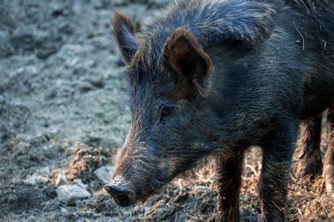
<instances>
[{"instance_id":1,"label":"boar's larger brown-rimmed ear with dark hollow, above its eye","mask_svg":"<svg viewBox=\"0 0 334 222\"><path fill-rule=\"evenodd\" d=\"M183 79L194 84L202 96L206 95L213 67L209 55L203 51L196 37L182 27L175 30L166 41L163 55Z\"/></svg>"}]
</instances>

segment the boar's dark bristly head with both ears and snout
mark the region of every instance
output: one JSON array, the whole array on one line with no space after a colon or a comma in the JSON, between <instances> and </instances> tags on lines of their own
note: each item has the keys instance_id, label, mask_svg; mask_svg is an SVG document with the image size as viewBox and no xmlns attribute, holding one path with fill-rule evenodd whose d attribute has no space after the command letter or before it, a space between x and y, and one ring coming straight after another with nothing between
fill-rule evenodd
<instances>
[{"instance_id":1,"label":"boar's dark bristly head with both ears and snout","mask_svg":"<svg viewBox=\"0 0 334 222\"><path fill-rule=\"evenodd\" d=\"M126 207L213 152L215 118L206 105L213 65L182 27L147 40L116 12L113 34L128 67L132 122L104 190Z\"/></svg>"}]
</instances>

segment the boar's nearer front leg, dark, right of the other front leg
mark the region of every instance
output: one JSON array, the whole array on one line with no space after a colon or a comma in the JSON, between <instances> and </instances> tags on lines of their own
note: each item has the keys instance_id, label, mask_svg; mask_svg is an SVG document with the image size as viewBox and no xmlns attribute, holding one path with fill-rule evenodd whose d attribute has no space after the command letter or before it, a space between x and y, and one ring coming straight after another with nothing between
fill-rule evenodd
<instances>
[{"instance_id":1,"label":"boar's nearer front leg, dark, right of the other front leg","mask_svg":"<svg viewBox=\"0 0 334 222\"><path fill-rule=\"evenodd\" d=\"M276 132L269 133L261 144L263 159L258 186L263 221L285 221L286 217L287 183L298 127L297 123L283 124L273 127Z\"/></svg>"}]
</instances>

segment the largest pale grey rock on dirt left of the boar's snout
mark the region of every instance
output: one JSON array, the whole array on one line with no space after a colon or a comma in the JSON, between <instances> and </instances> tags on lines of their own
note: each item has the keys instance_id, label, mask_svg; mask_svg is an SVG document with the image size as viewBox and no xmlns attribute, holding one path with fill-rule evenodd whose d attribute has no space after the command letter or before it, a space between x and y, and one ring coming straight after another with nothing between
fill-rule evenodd
<instances>
[{"instance_id":1,"label":"largest pale grey rock on dirt left of the boar's snout","mask_svg":"<svg viewBox=\"0 0 334 222\"><path fill-rule=\"evenodd\" d=\"M76 200L84 200L90 197L90 193L80 188L79 185L61 185L56 192L58 200L70 206L74 206Z\"/></svg>"}]
</instances>

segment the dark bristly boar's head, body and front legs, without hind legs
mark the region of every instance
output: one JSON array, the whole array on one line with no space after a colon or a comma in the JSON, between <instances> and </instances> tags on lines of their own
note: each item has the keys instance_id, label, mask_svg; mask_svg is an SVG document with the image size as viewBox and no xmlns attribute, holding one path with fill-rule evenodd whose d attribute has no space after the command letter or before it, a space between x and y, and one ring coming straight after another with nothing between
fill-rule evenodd
<instances>
[{"instance_id":1,"label":"dark bristly boar's head, body and front legs, without hind legs","mask_svg":"<svg viewBox=\"0 0 334 222\"><path fill-rule=\"evenodd\" d=\"M218 219L238 219L243 152L264 150L262 212L283 218L298 124L334 103L329 1L180 1L135 34L116 13L132 124L113 181L121 206L144 200L209 155Z\"/></svg>"}]
</instances>

